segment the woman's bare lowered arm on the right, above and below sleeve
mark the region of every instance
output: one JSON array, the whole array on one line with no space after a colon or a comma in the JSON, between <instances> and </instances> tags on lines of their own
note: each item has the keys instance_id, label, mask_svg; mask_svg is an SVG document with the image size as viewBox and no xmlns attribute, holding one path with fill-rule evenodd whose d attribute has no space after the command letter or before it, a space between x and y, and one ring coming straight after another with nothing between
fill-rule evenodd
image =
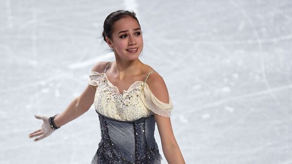
<instances>
[{"instance_id":1,"label":"woman's bare lowered arm on the right, above and below sleeve","mask_svg":"<svg viewBox=\"0 0 292 164\"><path fill-rule=\"evenodd\" d=\"M164 103L169 103L169 96L163 78L153 74L148 78L148 86L154 96ZM159 131L163 153L168 164L185 164L182 152L173 134L170 117L154 115Z\"/></svg>"}]
</instances>

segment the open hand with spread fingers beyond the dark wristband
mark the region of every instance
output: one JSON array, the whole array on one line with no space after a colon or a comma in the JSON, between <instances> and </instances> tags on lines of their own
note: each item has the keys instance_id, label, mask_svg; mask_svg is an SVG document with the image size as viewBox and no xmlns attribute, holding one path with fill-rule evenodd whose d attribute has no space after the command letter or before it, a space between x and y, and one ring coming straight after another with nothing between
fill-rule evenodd
<instances>
[{"instance_id":1,"label":"open hand with spread fingers beyond the dark wristband","mask_svg":"<svg viewBox=\"0 0 292 164\"><path fill-rule=\"evenodd\" d=\"M35 114L35 117L37 119L41 119L43 120L43 124L41 125L40 129L36 130L35 132L32 132L28 135L29 138L32 137L37 137L40 136L38 138L36 138L34 141L38 141L41 140L49 135L51 135L55 130L53 128L51 128L50 124L49 124L49 117L47 116L39 116Z\"/></svg>"}]
</instances>

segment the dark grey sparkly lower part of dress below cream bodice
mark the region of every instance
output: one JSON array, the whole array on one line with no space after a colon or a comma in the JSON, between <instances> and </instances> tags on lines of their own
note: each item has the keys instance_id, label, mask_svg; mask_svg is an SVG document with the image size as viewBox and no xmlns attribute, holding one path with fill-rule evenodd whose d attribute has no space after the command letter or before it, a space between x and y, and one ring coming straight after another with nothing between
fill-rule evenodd
<instances>
[{"instance_id":1,"label":"dark grey sparkly lower part of dress below cream bodice","mask_svg":"<svg viewBox=\"0 0 292 164\"><path fill-rule=\"evenodd\" d=\"M91 164L161 164L154 115L120 121L97 113L101 141Z\"/></svg>"}]
</instances>

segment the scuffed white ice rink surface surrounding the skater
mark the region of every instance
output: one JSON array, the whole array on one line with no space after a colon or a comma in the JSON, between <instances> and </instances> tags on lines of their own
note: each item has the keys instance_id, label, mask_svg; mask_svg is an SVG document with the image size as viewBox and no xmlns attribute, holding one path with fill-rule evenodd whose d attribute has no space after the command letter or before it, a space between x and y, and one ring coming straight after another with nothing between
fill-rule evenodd
<instances>
[{"instance_id":1,"label":"scuffed white ice rink surface surrounding the skater","mask_svg":"<svg viewBox=\"0 0 292 164\"><path fill-rule=\"evenodd\" d=\"M119 9L138 14L140 59L164 78L187 164L292 164L291 0L1 0L0 164L90 164L93 106L39 142L27 135L33 114L60 113L94 63L115 60L100 36Z\"/></svg>"}]
</instances>

